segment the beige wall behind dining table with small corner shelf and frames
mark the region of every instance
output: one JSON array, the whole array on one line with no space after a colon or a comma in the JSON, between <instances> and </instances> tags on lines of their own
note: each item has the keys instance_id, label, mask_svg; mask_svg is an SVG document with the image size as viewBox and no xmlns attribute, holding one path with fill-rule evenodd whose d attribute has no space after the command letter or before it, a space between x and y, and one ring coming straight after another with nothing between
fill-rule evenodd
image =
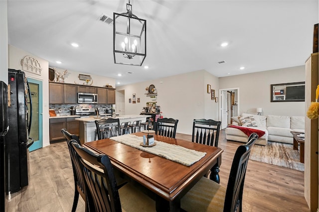
<instances>
[{"instance_id":1,"label":"beige wall behind dining table with small corner shelf and frames","mask_svg":"<svg viewBox=\"0 0 319 212\"><path fill-rule=\"evenodd\" d=\"M218 105L207 94L207 84L218 90L218 78L204 70L118 87L118 91L125 90L126 114L139 114L147 102L152 102L145 95L151 84L157 89L156 102L163 116L179 120L177 132L191 134L194 118L218 119ZM129 104L132 94L141 102Z\"/></svg>"}]
</instances>

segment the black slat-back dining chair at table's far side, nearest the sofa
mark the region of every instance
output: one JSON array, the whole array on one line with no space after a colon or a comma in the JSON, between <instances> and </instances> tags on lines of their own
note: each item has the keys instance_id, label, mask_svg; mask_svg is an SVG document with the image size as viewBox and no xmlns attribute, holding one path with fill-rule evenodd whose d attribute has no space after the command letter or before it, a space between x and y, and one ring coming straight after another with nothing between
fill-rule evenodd
<instances>
[{"instance_id":1,"label":"black slat-back dining chair at table's far side, nearest the sofa","mask_svg":"<svg viewBox=\"0 0 319 212\"><path fill-rule=\"evenodd\" d=\"M218 147L221 121L212 119L194 119L192 142Z\"/></svg>"}]
</instances>

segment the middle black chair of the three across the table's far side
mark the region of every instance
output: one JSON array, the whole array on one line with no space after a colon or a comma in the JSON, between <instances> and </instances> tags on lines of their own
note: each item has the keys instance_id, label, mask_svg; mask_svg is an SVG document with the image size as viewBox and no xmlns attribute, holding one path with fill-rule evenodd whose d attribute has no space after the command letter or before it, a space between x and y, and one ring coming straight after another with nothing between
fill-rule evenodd
<instances>
[{"instance_id":1,"label":"middle black chair of the three across the table's far side","mask_svg":"<svg viewBox=\"0 0 319 212\"><path fill-rule=\"evenodd\" d=\"M175 138L178 119L158 118L155 134Z\"/></svg>"}]
</instances>

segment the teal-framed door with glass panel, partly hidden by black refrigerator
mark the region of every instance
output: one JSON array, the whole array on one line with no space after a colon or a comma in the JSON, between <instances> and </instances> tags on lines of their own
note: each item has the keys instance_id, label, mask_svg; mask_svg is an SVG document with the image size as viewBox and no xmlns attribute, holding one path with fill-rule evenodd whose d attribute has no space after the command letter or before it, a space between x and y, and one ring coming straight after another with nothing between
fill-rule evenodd
<instances>
[{"instance_id":1,"label":"teal-framed door with glass panel, partly hidden by black refrigerator","mask_svg":"<svg viewBox=\"0 0 319 212\"><path fill-rule=\"evenodd\" d=\"M34 143L29 147L33 151L43 147L42 135L42 81L27 78L32 102L32 124L29 137L34 139ZM28 108L30 101L28 100ZM28 113L30 115L30 112ZM30 118L29 118L30 120Z\"/></svg>"}]
</instances>

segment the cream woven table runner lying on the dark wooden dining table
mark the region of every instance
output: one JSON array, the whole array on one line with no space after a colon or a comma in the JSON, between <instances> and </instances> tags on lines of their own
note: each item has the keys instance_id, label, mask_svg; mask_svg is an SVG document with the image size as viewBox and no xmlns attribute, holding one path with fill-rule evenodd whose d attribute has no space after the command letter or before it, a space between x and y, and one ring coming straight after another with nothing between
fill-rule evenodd
<instances>
[{"instance_id":1,"label":"cream woven table runner lying on the dark wooden dining table","mask_svg":"<svg viewBox=\"0 0 319 212\"><path fill-rule=\"evenodd\" d=\"M143 147L140 145L143 142L143 137L125 134L120 136L111 137L111 140L126 144L128 146L132 146L134 148L140 149L142 151L152 153L168 160L183 164L185 166L190 166L197 161L199 161L202 157L206 155L206 152L199 152L193 149L187 149L182 146L178 146L175 144L169 144L162 141L157 141L156 145L153 147Z\"/></svg>"}]
</instances>

